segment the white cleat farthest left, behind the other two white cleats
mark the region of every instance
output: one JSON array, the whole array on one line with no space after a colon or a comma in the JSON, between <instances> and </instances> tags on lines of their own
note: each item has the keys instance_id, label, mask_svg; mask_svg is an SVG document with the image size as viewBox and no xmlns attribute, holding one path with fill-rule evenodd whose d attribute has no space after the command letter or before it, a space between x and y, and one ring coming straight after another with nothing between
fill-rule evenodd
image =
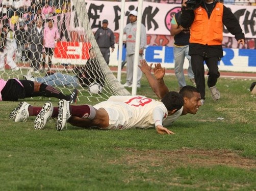
<instances>
[{"instance_id":1,"label":"white cleat farthest left, behind the other two white cleats","mask_svg":"<svg viewBox=\"0 0 256 191\"><path fill-rule=\"evenodd\" d=\"M31 105L27 102L20 102L18 107L10 113L9 118L14 122L26 121L29 118L29 106Z\"/></svg>"}]
</instances>

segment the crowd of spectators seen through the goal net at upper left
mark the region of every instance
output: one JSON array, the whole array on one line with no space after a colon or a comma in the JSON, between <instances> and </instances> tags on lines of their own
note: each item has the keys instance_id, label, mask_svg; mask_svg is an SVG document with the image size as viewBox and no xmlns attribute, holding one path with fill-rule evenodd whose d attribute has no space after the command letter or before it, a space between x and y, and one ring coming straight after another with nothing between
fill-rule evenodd
<instances>
[{"instance_id":1,"label":"crowd of spectators seen through the goal net at upper left","mask_svg":"<svg viewBox=\"0 0 256 191\"><path fill-rule=\"evenodd\" d=\"M3 33L5 26L8 30L4 32L14 34L17 43L16 61L30 58L28 41L30 32L38 27L38 21L42 22L44 29L49 18L68 11L70 0L0 0L0 30ZM63 33L60 35L60 39L64 37Z\"/></svg>"}]
</instances>

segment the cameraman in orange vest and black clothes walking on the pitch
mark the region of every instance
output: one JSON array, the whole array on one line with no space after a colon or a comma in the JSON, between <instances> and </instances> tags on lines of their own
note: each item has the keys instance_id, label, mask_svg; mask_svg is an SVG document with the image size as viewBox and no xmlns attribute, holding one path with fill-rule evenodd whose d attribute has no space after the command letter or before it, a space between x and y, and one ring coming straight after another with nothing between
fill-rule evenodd
<instances>
[{"instance_id":1,"label":"cameraman in orange vest and black clothes walking on the pitch","mask_svg":"<svg viewBox=\"0 0 256 191\"><path fill-rule=\"evenodd\" d=\"M223 57L222 39L223 24L235 35L238 44L244 46L245 37L239 21L222 3L215 0L184 0L182 3L181 25L190 28L189 55L195 75L196 87L200 91L202 101L205 100L205 79L203 62L209 69L207 85L213 100L220 99L216 88L220 76L218 61Z\"/></svg>"}]
</instances>

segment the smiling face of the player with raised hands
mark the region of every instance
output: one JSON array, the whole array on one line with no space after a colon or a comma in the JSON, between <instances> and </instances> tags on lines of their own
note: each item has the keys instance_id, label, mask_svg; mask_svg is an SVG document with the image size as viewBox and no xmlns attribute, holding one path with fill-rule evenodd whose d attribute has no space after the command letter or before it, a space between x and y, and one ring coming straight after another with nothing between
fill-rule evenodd
<instances>
[{"instance_id":1,"label":"smiling face of the player with raised hands","mask_svg":"<svg viewBox=\"0 0 256 191\"><path fill-rule=\"evenodd\" d=\"M187 98L186 109L187 113L196 114L199 107L201 106L201 95L198 92L193 92L194 96L192 98Z\"/></svg>"}]
</instances>

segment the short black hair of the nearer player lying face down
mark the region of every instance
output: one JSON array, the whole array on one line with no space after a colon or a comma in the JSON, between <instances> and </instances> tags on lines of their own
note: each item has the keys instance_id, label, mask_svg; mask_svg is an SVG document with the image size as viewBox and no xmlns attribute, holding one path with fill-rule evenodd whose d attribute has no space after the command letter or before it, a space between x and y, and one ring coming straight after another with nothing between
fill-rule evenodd
<instances>
[{"instance_id":1,"label":"short black hair of the nearer player lying face down","mask_svg":"<svg viewBox=\"0 0 256 191\"><path fill-rule=\"evenodd\" d=\"M180 93L169 91L161 100L168 111L179 110L184 105L184 99Z\"/></svg>"}]
</instances>

